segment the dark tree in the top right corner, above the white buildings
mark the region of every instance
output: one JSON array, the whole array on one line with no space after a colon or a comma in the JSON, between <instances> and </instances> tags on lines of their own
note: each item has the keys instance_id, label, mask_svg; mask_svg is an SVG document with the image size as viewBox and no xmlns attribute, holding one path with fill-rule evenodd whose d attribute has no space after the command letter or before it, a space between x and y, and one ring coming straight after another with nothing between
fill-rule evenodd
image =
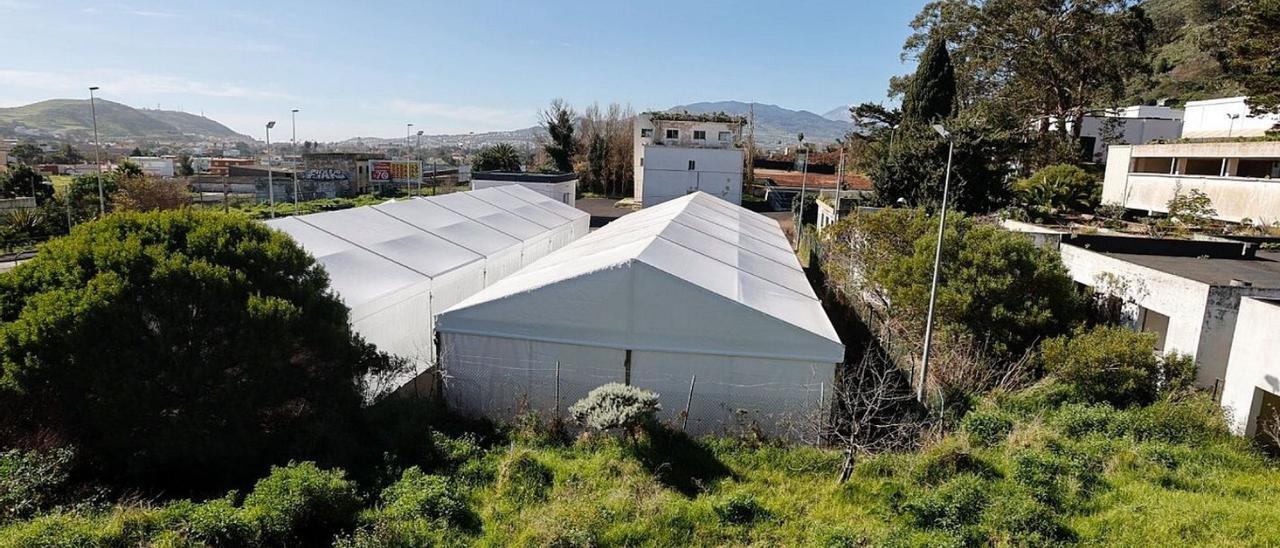
<instances>
[{"instance_id":1,"label":"dark tree in the top right corner, above the white buildings","mask_svg":"<svg viewBox=\"0 0 1280 548\"><path fill-rule=\"evenodd\" d=\"M1226 74L1244 87L1252 110L1280 113L1280 0L1236 3L1224 20Z\"/></svg>"}]
</instances>

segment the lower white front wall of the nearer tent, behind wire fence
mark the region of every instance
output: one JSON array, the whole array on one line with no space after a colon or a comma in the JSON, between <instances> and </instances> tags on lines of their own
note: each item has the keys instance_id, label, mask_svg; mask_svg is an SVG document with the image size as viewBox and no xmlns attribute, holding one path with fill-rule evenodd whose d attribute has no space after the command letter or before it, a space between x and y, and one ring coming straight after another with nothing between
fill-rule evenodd
<instances>
[{"instance_id":1,"label":"lower white front wall of the nearer tent, behind wire fence","mask_svg":"<svg viewBox=\"0 0 1280 548\"><path fill-rule=\"evenodd\" d=\"M448 346L445 346L447 348ZM468 416L512 420L526 412L570 419L568 408L608 383L659 396L659 420L692 435L762 434L819 443L831 403L832 366L692 357L677 364L636 352L593 348L589 360L445 350L444 397ZM660 356L660 357L669 357Z\"/></svg>"}]
</instances>

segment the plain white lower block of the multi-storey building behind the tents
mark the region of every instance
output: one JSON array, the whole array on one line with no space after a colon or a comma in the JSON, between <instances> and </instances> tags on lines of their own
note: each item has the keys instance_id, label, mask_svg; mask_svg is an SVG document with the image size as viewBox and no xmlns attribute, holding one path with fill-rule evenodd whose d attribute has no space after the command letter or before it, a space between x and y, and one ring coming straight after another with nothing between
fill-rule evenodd
<instances>
[{"instance_id":1,"label":"plain white lower block of the multi-storey building behind the tents","mask_svg":"<svg viewBox=\"0 0 1280 548\"><path fill-rule=\"evenodd\" d=\"M644 157L643 186L637 181L636 192L646 207L695 191L733 205L742 204L742 151L739 149L650 145L644 147ZM690 161L694 169L689 169Z\"/></svg>"}]
</instances>

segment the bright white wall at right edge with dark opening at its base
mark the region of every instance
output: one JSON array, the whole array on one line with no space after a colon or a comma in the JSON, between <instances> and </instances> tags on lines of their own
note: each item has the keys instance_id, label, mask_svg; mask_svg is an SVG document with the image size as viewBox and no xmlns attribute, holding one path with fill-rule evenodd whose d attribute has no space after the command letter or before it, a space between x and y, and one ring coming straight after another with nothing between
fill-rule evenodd
<instances>
[{"instance_id":1,"label":"bright white wall at right edge with dark opening at its base","mask_svg":"<svg viewBox=\"0 0 1280 548\"><path fill-rule=\"evenodd\" d=\"M1236 434L1256 433L1262 406L1258 391L1280 394L1276 348L1280 348L1280 306L1274 301L1242 300L1221 399Z\"/></svg>"}]
</instances>

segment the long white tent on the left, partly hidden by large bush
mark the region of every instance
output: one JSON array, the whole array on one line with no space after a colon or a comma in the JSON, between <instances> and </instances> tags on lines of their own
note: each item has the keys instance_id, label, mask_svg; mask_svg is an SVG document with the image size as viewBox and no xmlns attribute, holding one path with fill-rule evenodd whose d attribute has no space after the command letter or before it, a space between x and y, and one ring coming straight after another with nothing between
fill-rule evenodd
<instances>
[{"instance_id":1,"label":"long white tent on the left, partly hidden by large bush","mask_svg":"<svg viewBox=\"0 0 1280 548\"><path fill-rule=\"evenodd\" d=\"M527 188L498 187L268 224L324 265L355 330L410 360L417 376L435 361L436 314L585 234L589 222Z\"/></svg>"}]
</instances>

